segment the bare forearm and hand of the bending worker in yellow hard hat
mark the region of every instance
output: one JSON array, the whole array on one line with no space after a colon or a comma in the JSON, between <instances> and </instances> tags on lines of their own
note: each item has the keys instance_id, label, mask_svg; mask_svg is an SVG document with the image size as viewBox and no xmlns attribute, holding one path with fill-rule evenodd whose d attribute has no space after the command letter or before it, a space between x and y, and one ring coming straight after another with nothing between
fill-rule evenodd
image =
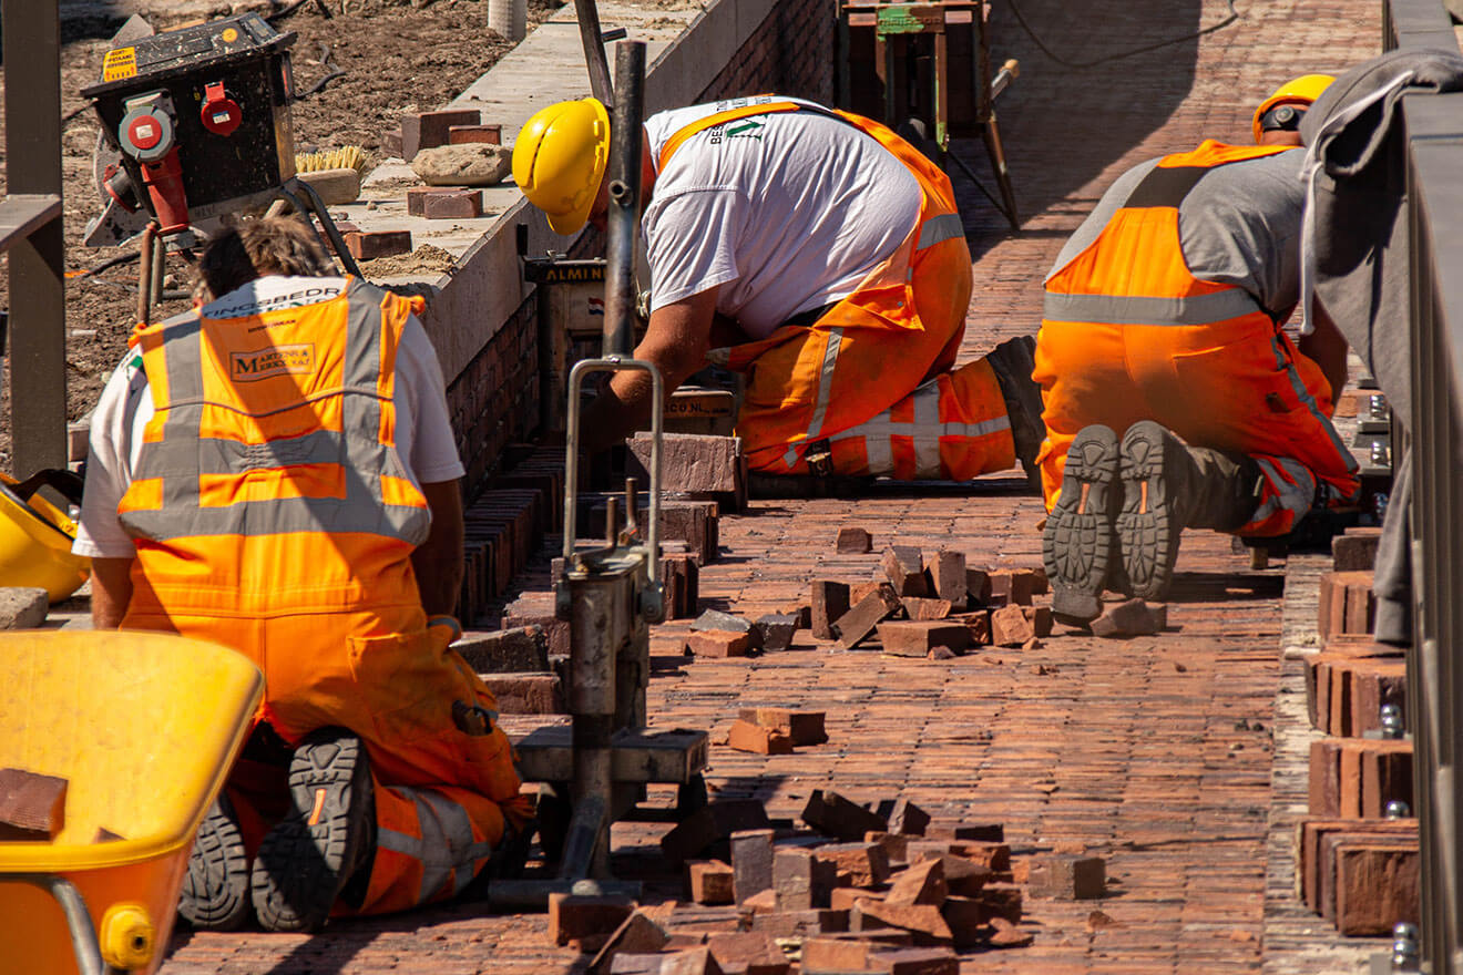
<instances>
[{"instance_id":1,"label":"bare forearm and hand of the bending worker in yellow hard hat","mask_svg":"<svg viewBox=\"0 0 1463 975\"><path fill-rule=\"evenodd\" d=\"M667 396L707 364L715 310L717 289L708 288L651 313L635 358L660 368ZM650 420L651 389L642 371L616 373L585 411L579 449L598 453L641 428Z\"/></svg>"}]
</instances>

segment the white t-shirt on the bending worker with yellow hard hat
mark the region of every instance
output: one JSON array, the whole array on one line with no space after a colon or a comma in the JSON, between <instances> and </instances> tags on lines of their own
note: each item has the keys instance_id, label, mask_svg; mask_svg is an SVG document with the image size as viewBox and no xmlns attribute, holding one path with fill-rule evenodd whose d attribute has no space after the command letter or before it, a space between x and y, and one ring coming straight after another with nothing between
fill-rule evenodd
<instances>
[{"instance_id":1,"label":"white t-shirt on the bending worker with yellow hard hat","mask_svg":"<svg viewBox=\"0 0 1463 975\"><path fill-rule=\"evenodd\" d=\"M685 126L762 95L664 111L651 155ZM800 102L811 104L811 102ZM645 208L651 310L720 285L717 311L753 339L853 294L919 221L903 162L847 121L783 111L712 126L680 145Z\"/></svg>"}]
</instances>

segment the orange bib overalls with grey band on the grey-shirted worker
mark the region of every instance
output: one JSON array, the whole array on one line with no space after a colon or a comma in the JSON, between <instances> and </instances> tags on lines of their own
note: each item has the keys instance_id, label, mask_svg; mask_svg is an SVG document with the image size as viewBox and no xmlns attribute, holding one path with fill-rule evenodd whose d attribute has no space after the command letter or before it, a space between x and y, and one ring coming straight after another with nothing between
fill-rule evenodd
<instances>
[{"instance_id":1,"label":"orange bib overalls with grey band on the grey-shirted worker","mask_svg":"<svg viewBox=\"0 0 1463 975\"><path fill-rule=\"evenodd\" d=\"M1197 279L1184 262L1178 208L1213 167L1285 152L1207 140L1166 156L1097 238L1046 282L1036 339L1046 441L1046 507L1067 449L1088 424L1122 433L1154 420L1189 446L1249 455L1260 504L1236 534L1289 532L1317 494L1356 493L1356 462L1330 422L1320 365L1244 289ZM1287 316L1282 316L1282 320Z\"/></svg>"}]
</instances>

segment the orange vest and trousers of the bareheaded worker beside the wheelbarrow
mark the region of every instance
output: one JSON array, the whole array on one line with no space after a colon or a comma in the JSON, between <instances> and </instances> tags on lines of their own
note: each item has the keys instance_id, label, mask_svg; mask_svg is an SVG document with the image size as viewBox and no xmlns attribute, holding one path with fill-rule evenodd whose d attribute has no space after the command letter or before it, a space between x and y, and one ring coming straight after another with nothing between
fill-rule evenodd
<instances>
[{"instance_id":1,"label":"orange vest and trousers of the bareheaded worker beside the wheelbarrow","mask_svg":"<svg viewBox=\"0 0 1463 975\"><path fill-rule=\"evenodd\" d=\"M364 900L336 914L452 896L505 822L530 816L503 732L454 721L458 702L496 702L448 649L454 627L427 626L411 569L430 512L396 455L392 396L418 303L350 281L316 304L190 313L135 336L155 414L119 506L138 548L121 626L253 659L257 719L290 746L322 726L360 735L377 849ZM257 766L237 772L252 852L287 788L282 770L262 791Z\"/></svg>"}]
</instances>

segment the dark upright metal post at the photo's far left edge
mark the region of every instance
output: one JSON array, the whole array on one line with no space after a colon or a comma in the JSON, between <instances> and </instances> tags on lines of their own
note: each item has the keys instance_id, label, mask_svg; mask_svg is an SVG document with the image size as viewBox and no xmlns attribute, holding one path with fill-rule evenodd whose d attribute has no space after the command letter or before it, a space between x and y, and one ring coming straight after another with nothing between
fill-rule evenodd
<instances>
[{"instance_id":1,"label":"dark upright metal post at the photo's far left edge","mask_svg":"<svg viewBox=\"0 0 1463 975\"><path fill-rule=\"evenodd\" d=\"M57 0L3 0L6 190L63 197ZM66 243L53 216L10 243L13 472L66 466Z\"/></svg>"}]
</instances>

